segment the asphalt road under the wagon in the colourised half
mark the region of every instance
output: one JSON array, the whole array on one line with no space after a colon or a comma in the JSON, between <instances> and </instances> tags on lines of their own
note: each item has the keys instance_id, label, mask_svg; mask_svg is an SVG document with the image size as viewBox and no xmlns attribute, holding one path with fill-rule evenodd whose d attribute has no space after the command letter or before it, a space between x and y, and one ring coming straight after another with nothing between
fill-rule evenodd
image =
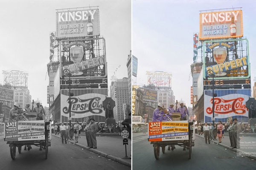
<instances>
[{"instance_id":1,"label":"asphalt road under the wagon in the colourised half","mask_svg":"<svg viewBox=\"0 0 256 170\"><path fill-rule=\"evenodd\" d=\"M133 170L256 170L256 160L247 157L237 157L232 150L218 144L205 144L204 139L195 138L192 147L192 158L189 160L189 150L176 146L174 151L167 150L160 159L154 158L153 144L147 140L147 135L133 133L132 145Z\"/></svg>"}]
</instances>

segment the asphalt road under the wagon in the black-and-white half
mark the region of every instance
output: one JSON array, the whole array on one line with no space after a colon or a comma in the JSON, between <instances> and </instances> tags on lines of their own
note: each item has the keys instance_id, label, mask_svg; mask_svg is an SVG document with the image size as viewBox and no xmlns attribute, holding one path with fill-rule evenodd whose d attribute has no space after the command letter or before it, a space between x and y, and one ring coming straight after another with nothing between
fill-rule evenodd
<instances>
[{"instance_id":1,"label":"asphalt road under the wagon in the black-and-white half","mask_svg":"<svg viewBox=\"0 0 256 170\"><path fill-rule=\"evenodd\" d=\"M52 146L49 147L48 159L45 158L45 150L39 151L39 147L32 146L32 150L23 150L19 154L16 149L16 159L10 156L9 145L0 136L0 169L1 170L131 170L123 164L119 164L105 157L99 156L88 150L82 150L73 144L61 144L61 139L52 136Z\"/></svg>"}]
</instances>

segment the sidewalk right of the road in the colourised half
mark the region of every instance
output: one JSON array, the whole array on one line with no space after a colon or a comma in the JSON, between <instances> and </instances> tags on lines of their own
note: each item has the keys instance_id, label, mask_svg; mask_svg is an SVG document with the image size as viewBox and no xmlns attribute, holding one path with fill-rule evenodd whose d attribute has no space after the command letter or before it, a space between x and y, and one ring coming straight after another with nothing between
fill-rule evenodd
<instances>
[{"instance_id":1,"label":"sidewalk right of the road in the colourised half","mask_svg":"<svg viewBox=\"0 0 256 170\"><path fill-rule=\"evenodd\" d=\"M195 134L196 136L199 136L201 138L204 138L204 134L203 135L198 135ZM216 137L217 139L218 137ZM218 143L218 139L217 140L211 140L211 142L221 145L227 149L233 150L234 152L236 152L237 154L241 155L241 156L247 156L251 159L255 159L256 160L256 144L253 143L254 141L256 141L256 136L241 136L240 135L240 144L242 142L250 142L250 144L254 147L253 149L245 149L245 147L243 147L242 149L232 149L232 147L230 147L230 139L229 136L227 136L227 134L224 135L224 138L221 139L221 143ZM249 153L249 154L248 154Z\"/></svg>"}]
</instances>

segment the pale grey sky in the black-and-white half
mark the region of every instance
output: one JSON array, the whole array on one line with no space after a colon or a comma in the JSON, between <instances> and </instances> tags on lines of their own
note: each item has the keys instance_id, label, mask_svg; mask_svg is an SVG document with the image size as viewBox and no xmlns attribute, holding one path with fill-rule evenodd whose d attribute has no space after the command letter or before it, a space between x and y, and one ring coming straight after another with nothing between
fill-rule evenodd
<instances>
[{"instance_id":1,"label":"pale grey sky in the black-and-white half","mask_svg":"<svg viewBox=\"0 0 256 170\"><path fill-rule=\"evenodd\" d=\"M28 89L34 100L47 104L49 33L56 29L55 10L99 6L100 36L106 42L108 82L128 77L131 51L129 0L0 0L0 83L2 70L29 74ZM120 65L120 67L119 67Z\"/></svg>"}]
</instances>

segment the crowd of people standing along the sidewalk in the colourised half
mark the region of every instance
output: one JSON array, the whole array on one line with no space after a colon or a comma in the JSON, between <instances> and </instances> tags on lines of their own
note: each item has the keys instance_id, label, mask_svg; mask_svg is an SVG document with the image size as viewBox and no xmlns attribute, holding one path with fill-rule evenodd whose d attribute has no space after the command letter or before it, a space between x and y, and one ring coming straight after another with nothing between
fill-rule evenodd
<instances>
[{"instance_id":1,"label":"crowd of people standing along the sidewalk in the colourised half","mask_svg":"<svg viewBox=\"0 0 256 170\"><path fill-rule=\"evenodd\" d=\"M195 125L195 133L198 133L198 135L204 134L206 144L207 141L210 144L210 140L217 140L217 137L218 143L221 143L221 139L224 138L224 132L229 134L230 147L239 148L239 133L256 133L256 124L254 126L240 124L237 118L234 118L229 119L228 123L224 125L221 121L214 125L212 123L209 123L209 125L208 123Z\"/></svg>"}]
</instances>

